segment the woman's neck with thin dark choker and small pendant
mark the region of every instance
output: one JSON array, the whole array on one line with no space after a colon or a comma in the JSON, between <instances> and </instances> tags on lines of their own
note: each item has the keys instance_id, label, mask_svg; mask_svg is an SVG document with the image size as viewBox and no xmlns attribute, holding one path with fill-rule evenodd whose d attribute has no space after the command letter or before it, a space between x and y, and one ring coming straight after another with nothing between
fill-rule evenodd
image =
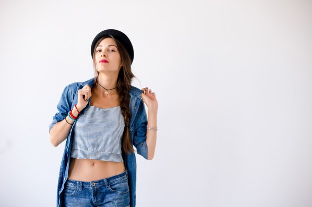
<instances>
[{"instance_id":1,"label":"woman's neck with thin dark choker and small pendant","mask_svg":"<svg viewBox=\"0 0 312 207\"><path fill-rule=\"evenodd\" d=\"M100 85L102 85L106 89L112 89L117 86L117 78L118 78L118 73L99 73L98 77L98 82ZM97 87L97 90L101 93L104 94L106 91L103 87L99 86ZM109 93L111 95L117 94L117 88L110 90Z\"/></svg>"}]
</instances>

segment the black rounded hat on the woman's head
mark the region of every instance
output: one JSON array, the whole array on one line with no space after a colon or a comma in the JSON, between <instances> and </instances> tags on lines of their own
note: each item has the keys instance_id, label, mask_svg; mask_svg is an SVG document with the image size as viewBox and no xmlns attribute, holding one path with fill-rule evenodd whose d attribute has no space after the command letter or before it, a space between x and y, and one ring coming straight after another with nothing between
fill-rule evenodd
<instances>
[{"instance_id":1,"label":"black rounded hat on the woman's head","mask_svg":"<svg viewBox=\"0 0 312 207\"><path fill-rule=\"evenodd\" d=\"M95 36L95 38L91 44L91 57L93 58L93 51L94 51L95 44L102 37L107 36L109 34L112 35L115 39L119 40L121 42L121 44L123 44L123 46L126 48L127 52L130 55L131 63L132 63L133 59L134 59L134 50L133 50L132 44L131 44L129 38L127 37L127 35L125 35L123 32L118 31L116 29L104 30L104 31L100 32L99 34L97 34L97 36Z\"/></svg>"}]
</instances>

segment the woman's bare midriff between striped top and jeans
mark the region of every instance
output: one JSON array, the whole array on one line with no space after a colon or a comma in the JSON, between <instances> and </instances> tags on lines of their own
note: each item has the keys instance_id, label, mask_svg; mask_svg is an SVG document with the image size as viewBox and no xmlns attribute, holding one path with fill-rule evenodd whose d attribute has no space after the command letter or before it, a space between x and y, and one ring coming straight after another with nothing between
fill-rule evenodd
<instances>
[{"instance_id":1,"label":"woman's bare midriff between striped top and jeans","mask_svg":"<svg viewBox=\"0 0 312 207\"><path fill-rule=\"evenodd\" d=\"M68 179L91 182L121 174L125 170L124 162L71 158Z\"/></svg>"}]
</instances>

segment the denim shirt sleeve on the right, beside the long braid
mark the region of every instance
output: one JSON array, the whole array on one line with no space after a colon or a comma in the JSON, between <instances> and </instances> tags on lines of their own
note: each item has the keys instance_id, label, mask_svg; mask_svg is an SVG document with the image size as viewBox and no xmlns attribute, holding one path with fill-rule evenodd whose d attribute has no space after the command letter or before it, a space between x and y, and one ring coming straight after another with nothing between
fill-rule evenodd
<instances>
[{"instance_id":1,"label":"denim shirt sleeve on the right, beside the long braid","mask_svg":"<svg viewBox=\"0 0 312 207\"><path fill-rule=\"evenodd\" d=\"M148 126L148 117L145 111L144 102L141 101L136 116L136 131L134 132L134 146L137 148L137 153L148 159L148 145L146 143L146 133Z\"/></svg>"}]
</instances>

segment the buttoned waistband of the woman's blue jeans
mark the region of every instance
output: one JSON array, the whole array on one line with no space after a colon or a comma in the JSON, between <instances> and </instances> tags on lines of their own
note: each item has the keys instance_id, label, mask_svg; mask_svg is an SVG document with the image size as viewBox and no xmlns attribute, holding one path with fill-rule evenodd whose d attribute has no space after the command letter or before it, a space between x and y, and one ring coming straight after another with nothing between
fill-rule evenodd
<instances>
[{"instance_id":1,"label":"buttoned waistband of the woman's blue jeans","mask_svg":"<svg viewBox=\"0 0 312 207\"><path fill-rule=\"evenodd\" d=\"M104 178L101 180L86 182L86 181L67 179L66 182L74 184L75 186L77 186L78 189L82 189L82 188L95 188L95 187L102 187L102 186L108 187L109 184L113 184L113 183L116 183L122 180L127 180L127 179L128 179L128 170L126 169L121 174L114 175L112 177Z\"/></svg>"}]
</instances>

